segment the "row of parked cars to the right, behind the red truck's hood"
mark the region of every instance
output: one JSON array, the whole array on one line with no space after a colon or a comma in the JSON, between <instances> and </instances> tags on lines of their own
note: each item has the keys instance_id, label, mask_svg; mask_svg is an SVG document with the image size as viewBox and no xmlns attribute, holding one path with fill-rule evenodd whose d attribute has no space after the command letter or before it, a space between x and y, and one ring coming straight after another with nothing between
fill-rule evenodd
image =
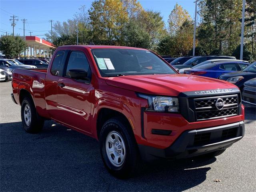
<instances>
[{"instance_id":1,"label":"row of parked cars to the right, behind the red truck's hood","mask_svg":"<svg viewBox=\"0 0 256 192\"><path fill-rule=\"evenodd\" d=\"M256 105L256 62L250 64L232 56L185 56L170 64L182 74L218 78L235 84L242 92L242 100Z\"/></svg>"}]
</instances>

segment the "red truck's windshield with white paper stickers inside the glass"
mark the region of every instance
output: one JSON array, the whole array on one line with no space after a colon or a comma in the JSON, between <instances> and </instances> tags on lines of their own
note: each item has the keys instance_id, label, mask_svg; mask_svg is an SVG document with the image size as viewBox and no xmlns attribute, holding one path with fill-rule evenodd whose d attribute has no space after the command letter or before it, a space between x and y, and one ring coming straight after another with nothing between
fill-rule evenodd
<instances>
[{"instance_id":1,"label":"red truck's windshield with white paper stickers inside the glass","mask_svg":"<svg viewBox=\"0 0 256 192\"><path fill-rule=\"evenodd\" d=\"M147 50L92 49L102 77L148 74L176 74L158 56Z\"/></svg>"}]
</instances>

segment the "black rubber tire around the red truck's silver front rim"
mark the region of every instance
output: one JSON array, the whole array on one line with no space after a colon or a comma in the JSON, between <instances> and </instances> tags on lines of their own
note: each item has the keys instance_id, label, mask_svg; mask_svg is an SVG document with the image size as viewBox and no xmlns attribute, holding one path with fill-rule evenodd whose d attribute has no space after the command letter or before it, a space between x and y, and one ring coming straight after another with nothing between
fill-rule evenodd
<instances>
[{"instance_id":1,"label":"black rubber tire around the red truck's silver front rim","mask_svg":"<svg viewBox=\"0 0 256 192\"><path fill-rule=\"evenodd\" d=\"M114 166L106 152L106 139L111 132L120 134L125 144L125 158L121 166ZM140 156L134 134L130 126L122 118L112 118L104 123L100 132L100 154L104 165L117 178L130 178L138 170ZM114 145L115 146L115 145Z\"/></svg>"}]
</instances>

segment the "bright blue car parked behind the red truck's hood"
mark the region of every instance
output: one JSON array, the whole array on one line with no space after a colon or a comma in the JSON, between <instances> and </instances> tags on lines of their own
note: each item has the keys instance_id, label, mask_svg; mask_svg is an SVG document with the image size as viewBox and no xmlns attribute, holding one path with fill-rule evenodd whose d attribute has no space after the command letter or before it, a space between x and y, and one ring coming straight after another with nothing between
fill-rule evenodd
<instances>
[{"instance_id":1,"label":"bright blue car parked behind the red truck's hood","mask_svg":"<svg viewBox=\"0 0 256 192\"><path fill-rule=\"evenodd\" d=\"M234 72L242 71L250 63L240 62L240 61L219 61L219 62L210 62L204 65L195 66L190 70L184 70L185 74L199 75L205 77L218 78L220 75Z\"/></svg>"}]
</instances>

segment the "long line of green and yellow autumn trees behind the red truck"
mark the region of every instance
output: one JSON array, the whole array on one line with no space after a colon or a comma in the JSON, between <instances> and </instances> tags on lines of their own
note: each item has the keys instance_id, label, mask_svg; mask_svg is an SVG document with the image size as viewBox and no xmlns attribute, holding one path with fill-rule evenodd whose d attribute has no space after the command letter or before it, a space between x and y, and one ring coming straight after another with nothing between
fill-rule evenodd
<instances>
[{"instance_id":1,"label":"long line of green and yellow autumn trees behind the red truck","mask_svg":"<svg viewBox=\"0 0 256 192\"><path fill-rule=\"evenodd\" d=\"M240 58L242 0L201 0L198 7L196 55ZM249 61L256 60L255 10L256 0L246 0L244 60ZM77 30L79 44L133 46L172 57L192 55L194 20L177 3L165 24L161 12L145 10L137 0L94 0L89 8L81 6L73 18L54 22L53 44L76 44ZM46 40L51 41L50 31Z\"/></svg>"}]
</instances>

